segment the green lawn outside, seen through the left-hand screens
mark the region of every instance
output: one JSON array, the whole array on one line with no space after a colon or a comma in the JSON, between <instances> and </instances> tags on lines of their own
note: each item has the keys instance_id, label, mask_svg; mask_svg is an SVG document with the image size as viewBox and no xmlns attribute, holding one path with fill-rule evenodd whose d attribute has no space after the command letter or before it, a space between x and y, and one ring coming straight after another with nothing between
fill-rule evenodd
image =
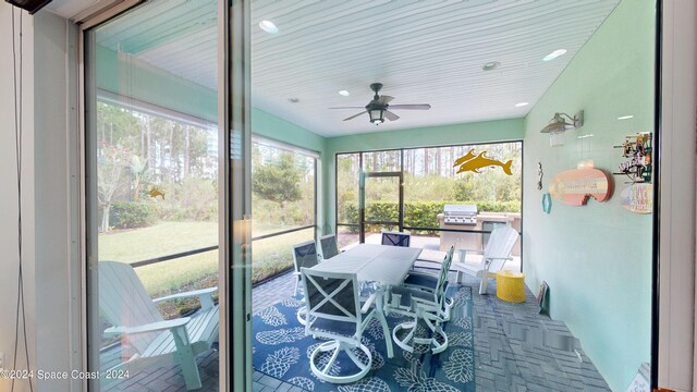
<instances>
[{"instance_id":1,"label":"green lawn outside, seen through the left-hand screens","mask_svg":"<svg viewBox=\"0 0 697 392\"><path fill-rule=\"evenodd\" d=\"M278 228L255 228L255 235ZM313 229L255 241L252 245L253 282L293 265L291 246L313 240ZM216 222L161 222L143 229L99 235L99 260L134 262L218 243ZM218 252L136 268L148 293L160 296L217 284Z\"/></svg>"}]
</instances>

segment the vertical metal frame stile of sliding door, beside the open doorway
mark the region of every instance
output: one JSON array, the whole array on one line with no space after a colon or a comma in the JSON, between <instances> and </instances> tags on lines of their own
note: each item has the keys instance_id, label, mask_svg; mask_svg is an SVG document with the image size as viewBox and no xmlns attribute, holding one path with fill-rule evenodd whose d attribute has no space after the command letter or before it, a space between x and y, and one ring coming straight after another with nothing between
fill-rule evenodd
<instances>
[{"instance_id":1,"label":"vertical metal frame stile of sliding door, beside the open doorway","mask_svg":"<svg viewBox=\"0 0 697 392\"><path fill-rule=\"evenodd\" d=\"M229 392L252 391L249 3L218 1L219 377Z\"/></svg>"}]
</instances>

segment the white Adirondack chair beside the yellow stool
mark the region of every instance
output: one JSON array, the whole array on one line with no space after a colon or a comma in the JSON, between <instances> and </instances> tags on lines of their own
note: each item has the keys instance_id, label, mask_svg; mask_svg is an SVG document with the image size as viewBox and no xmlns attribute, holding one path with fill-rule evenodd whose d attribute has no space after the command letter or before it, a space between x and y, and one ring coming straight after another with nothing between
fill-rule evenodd
<instances>
[{"instance_id":1,"label":"white Adirondack chair beside the yellow stool","mask_svg":"<svg viewBox=\"0 0 697 392\"><path fill-rule=\"evenodd\" d=\"M497 272L501 270L506 260L512 260L511 253L515 241L518 238L518 232L511 226L498 228L491 232L489 242L484 249L481 264L478 267L458 262L455 266L457 270L457 281L462 280L462 273L467 273L481 279L479 283L479 294L487 293L487 283L489 278L496 278ZM476 250L466 250L475 252Z\"/></svg>"}]
</instances>

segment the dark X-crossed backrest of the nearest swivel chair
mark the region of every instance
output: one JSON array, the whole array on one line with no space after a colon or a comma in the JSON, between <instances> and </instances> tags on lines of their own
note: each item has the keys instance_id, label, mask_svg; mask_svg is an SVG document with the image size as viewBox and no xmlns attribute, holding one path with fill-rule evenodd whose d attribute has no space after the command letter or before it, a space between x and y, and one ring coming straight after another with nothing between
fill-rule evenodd
<instances>
[{"instance_id":1,"label":"dark X-crossed backrest of the nearest swivel chair","mask_svg":"<svg viewBox=\"0 0 697 392\"><path fill-rule=\"evenodd\" d=\"M355 322L356 328L360 324L360 302L355 273L315 271L308 268L303 268L301 273L309 318Z\"/></svg>"}]
</instances>

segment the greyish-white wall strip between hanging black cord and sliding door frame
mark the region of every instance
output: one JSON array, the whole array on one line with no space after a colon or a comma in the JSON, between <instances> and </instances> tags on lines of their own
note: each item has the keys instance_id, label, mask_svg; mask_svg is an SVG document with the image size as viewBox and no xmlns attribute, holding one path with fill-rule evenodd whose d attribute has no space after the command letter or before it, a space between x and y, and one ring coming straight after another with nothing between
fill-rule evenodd
<instances>
[{"instance_id":1,"label":"greyish-white wall strip between hanging black cord and sliding door frame","mask_svg":"<svg viewBox=\"0 0 697 392\"><path fill-rule=\"evenodd\" d=\"M34 16L36 366L68 372L80 369L82 283L75 241L78 148L77 107L74 95L69 99L69 90L76 87L70 28L66 20L49 12ZM74 383L45 381L50 391L68 391Z\"/></svg>"}]
</instances>

